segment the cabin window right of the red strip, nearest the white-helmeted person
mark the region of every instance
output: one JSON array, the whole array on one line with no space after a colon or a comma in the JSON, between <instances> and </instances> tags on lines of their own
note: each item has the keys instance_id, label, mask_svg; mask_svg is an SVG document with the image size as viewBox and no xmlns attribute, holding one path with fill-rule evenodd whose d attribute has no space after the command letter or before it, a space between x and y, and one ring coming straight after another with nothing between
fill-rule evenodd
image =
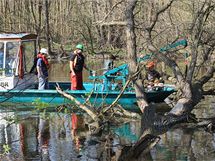
<instances>
[{"instance_id":1,"label":"cabin window right of the red strip, nearest the white-helmeted person","mask_svg":"<svg viewBox=\"0 0 215 161\"><path fill-rule=\"evenodd\" d=\"M35 41L23 42L23 55L24 55L24 70L25 72L30 72L32 66L34 65L35 53Z\"/></svg>"}]
</instances>

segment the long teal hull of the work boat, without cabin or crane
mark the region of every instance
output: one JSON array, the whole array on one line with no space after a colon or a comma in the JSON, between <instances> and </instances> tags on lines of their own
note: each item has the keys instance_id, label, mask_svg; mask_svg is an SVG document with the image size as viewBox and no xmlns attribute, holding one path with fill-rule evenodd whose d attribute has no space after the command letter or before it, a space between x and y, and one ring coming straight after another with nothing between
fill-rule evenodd
<instances>
[{"instance_id":1,"label":"long teal hull of the work boat, without cabin or crane","mask_svg":"<svg viewBox=\"0 0 215 161\"><path fill-rule=\"evenodd\" d=\"M95 90L92 84L85 84L86 90L68 90L69 84L61 84L66 93L75 97L81 103L84 103L86 98L91 95L89 101L95 106L101 106L103 104L111 104L120 91L108 91L103 92L101 90ZM102 85L102 84L100 84ZM54 84L52 84L54 88ZM98 89L98 88L97 88ZM161 91L150 91L146 92L148 102L163 102L166 97L174 92L172 90L161 90ZM63 97L55 89L50 90L37 90L37 89L26 89L26 90L5 90L0 91L0 102L13 102L13 103L35 103L45 102L50 105L68 104L72 103L71 100ZM134 92L125 91L118 101L118 104L122 106L132 107L136 105L136 96Z\"/></svg>"}]
</instances>

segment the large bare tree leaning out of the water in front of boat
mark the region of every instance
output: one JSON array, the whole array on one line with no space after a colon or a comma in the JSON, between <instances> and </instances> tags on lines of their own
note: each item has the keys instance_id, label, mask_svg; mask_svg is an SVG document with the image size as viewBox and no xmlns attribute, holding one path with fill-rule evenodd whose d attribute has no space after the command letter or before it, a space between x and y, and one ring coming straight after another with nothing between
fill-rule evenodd
<instances>
[{"instance_id":1,"label":"large bare tree leaning out of the water in front of boat","mask_svg":"<svg viewBox=\"0 0 215 161\"><path fill-rule=\"evenodd\" d=\"M215 31L214 29L209 28L209 25L207 25L214 12L214 3L211 1L204 1L201 3L200 8L195 8L196 13L193 13L195 16L193 16L194 18L191 26L188 27L188 40L191 61L187 66L186 72L183 73L183 69L181 69L179 64L174 59L172 59L173 52L177 51L166 51L165 53L161 53L161 51L158 50L159 47L155 45L156 43L154 40L156 24L159 23L159 17L172 6L174 1L175 0L171 0L162 8L153 10L153 12L151 13L150 22L148 24L146 22L143 22L142 26L149 51L154 53L157 59L165 62L165 64L167 64L173 71L174 77L176 78L176 86L181 92L181 95L175 107L166 116L157 116L153 111L153 105L147 104L147 100L144 98L143 91L140 90L140 85L134 86L137 95L143 95L143 97L141 97L141 100L143 99L145 102L144 105L138 103L140 109L143 112L143 135L134 146L122 153L120 160L135 160L142 152L147 154L147 151L149 151L149 149L159 141L159 138L157 136L153 136L158 135L158 133L154 131L156 130L156 126L158 126L159 129L161 129L162 127L162 132L165 132L175 124L184 121L186 122L194 106L196 106L201 101L203 95L214 94L214 89L210 89L209 91L204 91L203 89L203 86L213 78L215 71L215 59L212 55L215 43L212 37L209 36L214 35ZM195 7L195 5L193 6ZM135 62L136 39L134 30L134 26L136 24L134 23L135 16L133 13L135 7L137 7L136 0L128 1L125 16L127 20L127 51L129 57L132 58L130 59L130 66L132 67L130 68L130 72L132 72L131 69L135 69L134 67L137 67L137 63ZM178 35L178 37L181 36L182 35ZM172 42L177 39L177 37L173 38ZM203 58L201 57L201 55L203 55ZM199 76L198 73L200 68L205 68L203 64L208 64L208 67L206 67L207 71L203 76ZM137 82L138 79L135 79L134 84L137 84ZM149 109L150 106L151 109ZM150 127L150 125L153 127ZM144 144L148 144L148 146L144 147Z\"/></svg>"}]
</instances>

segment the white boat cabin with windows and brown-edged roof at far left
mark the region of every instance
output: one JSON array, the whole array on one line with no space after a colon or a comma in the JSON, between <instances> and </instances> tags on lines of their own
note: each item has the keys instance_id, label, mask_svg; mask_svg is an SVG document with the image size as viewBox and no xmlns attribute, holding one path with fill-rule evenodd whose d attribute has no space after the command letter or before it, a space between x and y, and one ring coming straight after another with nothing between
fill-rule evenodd
<instances>
[{"instance_id":1,"label":"white boat cabin with windows and brown-edged roof at far left","mask_svg":"<svg viewBox=\"0 0 215 161\"><path fill-rule=\"evenodd\" d=\"M26 89L35 84L30 73L36 56L37 35L0 34L0 90Z\"/></svg>"}]
</instances>

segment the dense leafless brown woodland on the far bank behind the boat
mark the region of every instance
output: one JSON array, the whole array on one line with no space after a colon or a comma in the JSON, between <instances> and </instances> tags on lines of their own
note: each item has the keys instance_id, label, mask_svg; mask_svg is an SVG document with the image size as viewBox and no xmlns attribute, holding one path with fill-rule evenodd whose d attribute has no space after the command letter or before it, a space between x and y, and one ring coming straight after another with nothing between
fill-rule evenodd
<instances>
[{"instance_id":1,"label":"dense leafless brown woodland on the far bank behind the boat","mask_svg":"<svg viewBox=\"0 0 215 161\"><path fill-rule=\"evenodd\" d=\"M138 52L147 52L143 25L168 0L138 1L135 8L135 32ZM189 37L195 10L203 1L175 1L157 20L153 41L160 47L176 38ZM52 51L59 45L71 49L83 43L90 54L126 51L125 0L0 0L0 32L36 33L48 40ZM213 26L215 21L209 21ZM212 28L210 28L212 29Z\"/></svg>"}]
</instances>

